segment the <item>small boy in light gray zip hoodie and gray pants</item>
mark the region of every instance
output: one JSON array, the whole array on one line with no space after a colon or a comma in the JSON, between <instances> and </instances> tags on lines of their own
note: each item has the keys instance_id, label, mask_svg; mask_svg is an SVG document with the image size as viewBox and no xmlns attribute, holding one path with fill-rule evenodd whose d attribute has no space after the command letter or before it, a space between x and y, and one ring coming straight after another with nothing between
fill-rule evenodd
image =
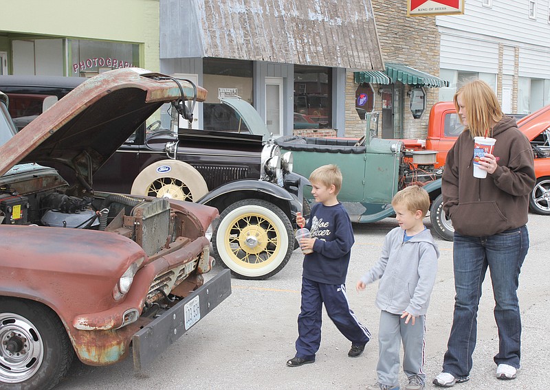
<instances>
[{"instance_id":1,"label":"small boy in light gray zip hoodie and gray pants","mask_svg":"<svg viewBox=\"0 0 550 390\"><path fill-rule=\"evenodd\" d=\"M428 192L411 185L392 203L399 227L384 239L382 255L357 282L357 290L380 280L376 306L380 312L378 384L370 389L399 389L399 341L403 342L406 390L424 388L425 316L437 273L439 249L423 225L430 207Z\"/></svg>"}]
</instances>

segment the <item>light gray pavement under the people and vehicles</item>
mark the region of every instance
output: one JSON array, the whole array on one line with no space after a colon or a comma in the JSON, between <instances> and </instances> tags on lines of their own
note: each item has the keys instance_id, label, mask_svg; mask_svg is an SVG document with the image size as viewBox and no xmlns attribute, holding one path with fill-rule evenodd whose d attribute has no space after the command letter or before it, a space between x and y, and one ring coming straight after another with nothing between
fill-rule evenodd
<instances>
[{"instance_id":1,"label":"light gray pavement under the people and vehicles","mask_svg":"<svg viewBox=\"0 0 550 390\"><path fill-rule=\"evenodd\" d=\"M492 314L494 301L487 274L478 314L478 345L470 382L456 385L472 389L547 388L547 312L549 221L529 214L531 247L520 275L522 310L522 369L513 381L494 378L492 357L498 346ZM426 225L430 227L429 221ZM110 367L89 367L76 362L59 390L91 389L364 389L376 381L379 310L374 306L377 284L365 292L355 291L355 282L377 260L384 235L395 220L386 218L369 225L354 225L355 246L347 286L351 308L373 334L359 358L349 358L351 345L324 317L322 342L316 363L286 367L294 356L296 319L300 311L300 275L303 256L295 251L283 271L265 281L232 279L232 295L208 314L179 341L160 355L152 367L135 373L131 356ZM427 388L441 370L452 321L454 284L452 242L436 238L441 258L437 282L426 318ZM207 275L219 271L218 264ZM401 373L401 385L404 385Z\"/></svg>"}]
</instances>

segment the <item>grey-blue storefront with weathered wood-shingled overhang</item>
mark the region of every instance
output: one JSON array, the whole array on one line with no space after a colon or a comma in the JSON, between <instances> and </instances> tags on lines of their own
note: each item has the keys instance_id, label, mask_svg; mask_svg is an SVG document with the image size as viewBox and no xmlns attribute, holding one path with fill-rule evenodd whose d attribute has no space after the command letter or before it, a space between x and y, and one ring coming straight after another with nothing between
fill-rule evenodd
<instances>
[{"instance_id":1,"label":"grey-blue storefront with weathered wood-shingled overhang","mask_svg":"<svg viewBox=\"0 0 550 390\"><path fill-rule=\"evenodd\" d=\"M298 0L253 10L236 3L160 0L162 73L208 90L193 126L224 128L230 113L219 98L234 94L275 136L344 136L346 74L383 69L370 1L320 3L315 12Z\"/></svg>"}]
</instances>

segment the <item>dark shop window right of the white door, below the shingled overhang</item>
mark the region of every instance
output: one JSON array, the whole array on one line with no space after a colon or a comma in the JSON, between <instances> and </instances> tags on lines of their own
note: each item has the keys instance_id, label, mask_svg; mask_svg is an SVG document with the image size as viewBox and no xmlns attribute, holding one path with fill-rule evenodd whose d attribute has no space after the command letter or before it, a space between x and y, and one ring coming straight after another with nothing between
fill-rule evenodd
<instances>
[{"instance_id":1,"label":"dark shop window right of the white door, below the shingled overhang","mask_svg":"<svg viewBox=\"0 0 550 390\"><path fill-rule=\"evenodd\" d=\"M331 91L330 68L294 67L295 129L304 128L305 123L318 124L318 128L331 128Z\"/></svg>"}]
</instances>

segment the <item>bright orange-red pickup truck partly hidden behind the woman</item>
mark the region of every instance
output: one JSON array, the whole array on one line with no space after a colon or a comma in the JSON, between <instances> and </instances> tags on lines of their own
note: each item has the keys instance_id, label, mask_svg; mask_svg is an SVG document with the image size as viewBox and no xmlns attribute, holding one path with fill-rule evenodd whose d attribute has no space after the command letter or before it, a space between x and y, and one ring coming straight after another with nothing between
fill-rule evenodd
<instances>
[{"instance_id":1,"label":"bright orange-red pickup truck partly hidden behind the woman","mask_svg":"<svg viewBox=\"0 0 550 390\"><path fill-rule=\"evenodd\" d=\"M550 215L550 105L518 119L518 128L533 147L537 183L529 197L531 211ZM445 164L448 150L464 129L452 102L434 104L428 122L428 137L404 139L406 149L437 151L436 168Z\"/></svg>"}]
</instances>

